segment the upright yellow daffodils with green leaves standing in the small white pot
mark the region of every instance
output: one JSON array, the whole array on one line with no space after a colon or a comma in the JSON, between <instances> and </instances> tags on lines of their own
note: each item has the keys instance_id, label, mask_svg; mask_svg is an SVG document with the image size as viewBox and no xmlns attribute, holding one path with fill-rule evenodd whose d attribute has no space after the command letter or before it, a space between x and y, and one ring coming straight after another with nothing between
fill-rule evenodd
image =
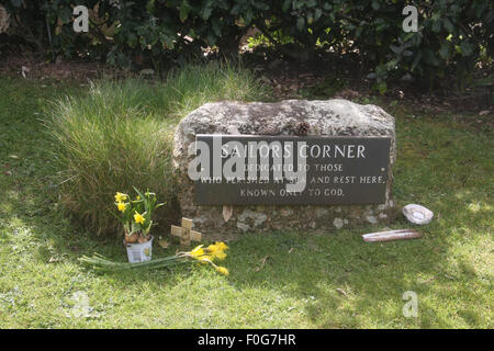
<instances>
[{"instance_id":1,"label":"upright yellow daffodils with green leaves standing in the small white pot","mask_svg":"<svg viewBox=\"0 0 494 351\"><path fill-rule=\"evenodd\" d=\"M157 203L155 193L147 191L143 194L138 189L134 190L137 193L134 199L121 192L114 196L120 213L115 217L123 225L126 244L146 242L150 239L153 214L156 208L164 205Z\"/></svg>"}]
</instances>

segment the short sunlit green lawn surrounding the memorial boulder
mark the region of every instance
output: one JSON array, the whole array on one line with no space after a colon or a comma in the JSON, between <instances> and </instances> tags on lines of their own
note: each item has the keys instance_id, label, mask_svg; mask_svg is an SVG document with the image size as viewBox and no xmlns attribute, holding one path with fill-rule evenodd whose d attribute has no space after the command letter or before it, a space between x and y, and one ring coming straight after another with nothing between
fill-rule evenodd
<instances>
[{"instance_id":1,"label":"short sunlit green lawn surrounding the memorial boulder","mask_svg":"<svg viewBox=\"0 0 494 351\"><path fill-rule=\"evenodd\" d=\"M88 87L0 78L0 328L494 327L489 131L383 105L396 117L396 201L436 214L420 239L362 241L380 226L249 235L229 242L229 276L194 264L97 274L77 259L97 251L124 261L124 247L61 215L41 121L48 101ZM402 314L406 291L417 293L416 318ZM90 308L75 317L80 296Z\"/></svg>"}]
</instances>

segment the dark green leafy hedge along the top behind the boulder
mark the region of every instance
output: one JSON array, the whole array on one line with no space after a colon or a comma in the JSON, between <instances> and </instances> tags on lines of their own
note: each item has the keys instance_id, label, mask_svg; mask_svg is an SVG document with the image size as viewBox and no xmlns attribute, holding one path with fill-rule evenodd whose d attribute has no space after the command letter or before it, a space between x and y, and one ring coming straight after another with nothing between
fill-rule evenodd
<instances>
[{"instance_id":1,"label":"dark green leafy hedge along the top behind the boulder","mask_svg":"<svg viewBox=\"0 0 494 351\"><path fill-rule=\"evenodd\" d=\"M93 9L89 34L71 26L71 7ZM35 3L42 3L35 4ZM417 33L405 33L397 0L8 0L13 32L55 57L91 57L124 67L175 66L201 48L234 53L250 26L296 59L316 48L359 53L378 83L411 73L464 78L494 50L491 0L417 0ZM191 42L190 38L193 41ZM289 44L289 45L287 45Z\"/></svg>"}]
</instances>

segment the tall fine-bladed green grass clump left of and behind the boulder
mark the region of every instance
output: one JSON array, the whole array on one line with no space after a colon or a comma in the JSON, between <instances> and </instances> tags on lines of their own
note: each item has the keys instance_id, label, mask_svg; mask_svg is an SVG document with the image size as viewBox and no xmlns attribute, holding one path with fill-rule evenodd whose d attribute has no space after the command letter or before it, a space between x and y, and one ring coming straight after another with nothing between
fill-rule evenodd
<instances>
[{"instance_id":1,"label":"tall fine-bladed green grass clump left of and behind the boulder","mask_svg":"<svg viewBox=\"0 0 494 351\"><path fill-rule=\"evenodd\" d=\"M60 203L96 233L114 231L113 194L132 186L154 191L172 203L175 125L205 102L262 100L254 76L227 64L187 66L165 82L98 81L83 97L58 99L46 125ZM168 208L168 211L167 211ZM158 211L166 219L172 206Z\"/></svg>"}]
</instances>

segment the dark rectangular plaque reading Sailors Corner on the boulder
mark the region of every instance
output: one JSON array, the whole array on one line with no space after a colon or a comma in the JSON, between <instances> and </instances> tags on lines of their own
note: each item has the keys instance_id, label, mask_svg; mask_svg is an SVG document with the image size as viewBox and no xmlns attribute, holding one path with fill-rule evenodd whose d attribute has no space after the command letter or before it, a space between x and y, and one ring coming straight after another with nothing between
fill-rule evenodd
<instances>
[{"instance_id":1,"label":"dark rectangular plaque reading Sailors Corner on the boulder","mask_svg":"<svg viewBox=\"0 0 494 351\"><path fill-rule=\"evenodd\" d=\"M203 134L195 140L195 205L386 201L391 137Z\"/></svg>"}]
</instances>

